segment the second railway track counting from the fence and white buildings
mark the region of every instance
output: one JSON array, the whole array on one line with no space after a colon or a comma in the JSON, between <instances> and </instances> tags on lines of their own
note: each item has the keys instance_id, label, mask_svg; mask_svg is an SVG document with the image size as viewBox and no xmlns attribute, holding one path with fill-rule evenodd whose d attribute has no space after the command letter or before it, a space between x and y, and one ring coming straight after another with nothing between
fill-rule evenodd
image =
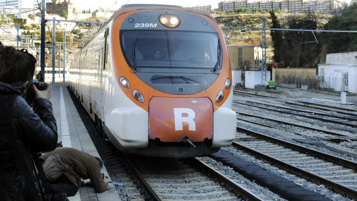
<instances>
[{"instance_id":1,"label":"second railway track counting from the fence and white buildings","mask_svg":"<svg viewBox=\"0 0 357 201\"><path fill-rule=\"evenodd\" d=\"M343 126L349 126L352 128L357 128L356 119L351 119L351 118L346 118L346 117L338 117L338 116L333 116L333 115L328 115L328 114L323 114L323 113L315 114L314 112L300 111L300 110L295 110L295 109L285 108L285 107L280 107L280 106L271 106L271 105L264 104L264 103L256 103L256 102L251 102L251 101L246 101L246 102L247 103L233 101L233 103L243 104L243 105L246 105L249 107L256 107L256 108L260 108L263 110L274 111L277 113L289 114L291 116L300 116L300 117L304 117L304 118L308 118L308 119L316 119L316 120L320 121L321 123L329 122L329 123L339 124L339 125L343 125ZM264 105L265 107L259 106L259 105ZM272 108L278 108L278 109L272 109Z\"/></svg>"}]
</instances>

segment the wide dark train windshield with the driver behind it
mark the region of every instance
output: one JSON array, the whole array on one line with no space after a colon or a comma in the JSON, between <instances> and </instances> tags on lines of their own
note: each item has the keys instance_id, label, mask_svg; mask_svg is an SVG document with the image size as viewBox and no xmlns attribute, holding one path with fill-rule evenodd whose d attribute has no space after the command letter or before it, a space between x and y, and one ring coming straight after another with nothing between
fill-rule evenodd
<instances>
[{"instance_id":1,"label":"wide dark train windshield with the driver behind it","mask_svg":"<svg viewBox=\"0 0 357 201\"><path fill-rule=\"evenodd\" d=\"M122 44L131 67L220 68L217 33L130 30Z\"/></svg>"}]
</instances>

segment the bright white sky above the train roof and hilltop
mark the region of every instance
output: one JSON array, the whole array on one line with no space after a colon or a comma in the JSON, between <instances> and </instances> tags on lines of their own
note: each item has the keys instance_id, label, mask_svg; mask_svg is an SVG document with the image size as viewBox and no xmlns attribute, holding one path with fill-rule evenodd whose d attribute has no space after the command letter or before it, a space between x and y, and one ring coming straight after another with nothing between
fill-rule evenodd
<instances>
[{"instance_id":1,"label":"bright white sky above the train roof and hilltop","mask_svg":"<svg viewBox=\"0 0 357 201\"><path fill-rule=\"evenodd\" d=\"M99 6L102 6L107 11L111 6L111 10L119 9L123 4L170 4L178 6L197 6L197 5L212 5L212 8L218 8L218 2L221 0L72 0L72 3L77 8L96 10ZM258 1L258 0L257 0ZM340 0L341 1L341 0ZM351 0L342 0L343 2L350 3Z\"/></svg>"}]
</instances>

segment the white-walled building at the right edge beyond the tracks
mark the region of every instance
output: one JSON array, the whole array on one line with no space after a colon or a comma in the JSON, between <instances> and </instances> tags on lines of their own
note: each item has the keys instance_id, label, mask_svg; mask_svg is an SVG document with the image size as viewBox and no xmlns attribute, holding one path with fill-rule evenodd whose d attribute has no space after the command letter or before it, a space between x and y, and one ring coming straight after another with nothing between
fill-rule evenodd
<instances>
[{"instance_id":1,"label":"white-walled building at the right edge beyond the tracks","mask_svg":"<svg viewBox=\"0 0 357 201\"><path fill-rule=\"evenodd\" d=\"M357 93L357 52L326 55L326 63L318 64L320 87Z\"/></svg>"}]
</instances>

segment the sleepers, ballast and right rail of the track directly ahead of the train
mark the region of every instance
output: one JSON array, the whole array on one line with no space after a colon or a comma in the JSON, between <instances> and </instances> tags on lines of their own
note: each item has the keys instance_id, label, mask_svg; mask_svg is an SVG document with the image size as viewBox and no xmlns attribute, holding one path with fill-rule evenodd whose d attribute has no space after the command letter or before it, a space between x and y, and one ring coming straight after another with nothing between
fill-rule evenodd
<instances>
[{"instance_id":1,"label":"sleepers, ballast and right rail of the track directly ahead of the train","mask_svg":"<svg viewBox=\"0 0 357 201\"><path fill-rule=\"evenodd\" d=\"M262 200L197 158L129 158L152 200ZM201 172L200 170L203 170Z\"/></svg>"}]
</instances>

